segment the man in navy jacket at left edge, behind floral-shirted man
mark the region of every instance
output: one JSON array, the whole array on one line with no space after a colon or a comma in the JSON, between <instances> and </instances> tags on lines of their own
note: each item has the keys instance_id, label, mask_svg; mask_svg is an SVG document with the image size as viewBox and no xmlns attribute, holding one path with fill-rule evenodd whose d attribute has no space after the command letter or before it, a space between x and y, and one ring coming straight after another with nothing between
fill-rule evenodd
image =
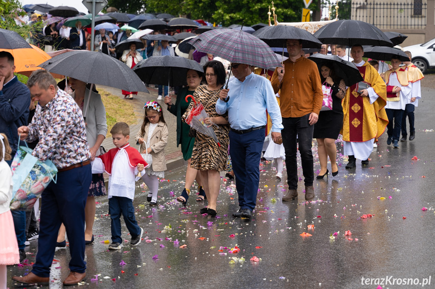
<instances>
[{"instance_id":1,"label":"man in navy jacket at left edge, behind floral-shirted man","mask_svg":"<svg viewBox=\"0 0 435 289\"><path fill-rule=\"evenodd\" d=\"M27 124L30 106L29 88L14 75L15 64L11 53L0 51L0 133L4 133L12 148L12 157L17 152L20 140L15 131ZM24 143L22 144L24 145ZM7 161L11 165L12 160ZM26 258L26 213L12 211L20 261Z\"/></svg>"}]
</instances>

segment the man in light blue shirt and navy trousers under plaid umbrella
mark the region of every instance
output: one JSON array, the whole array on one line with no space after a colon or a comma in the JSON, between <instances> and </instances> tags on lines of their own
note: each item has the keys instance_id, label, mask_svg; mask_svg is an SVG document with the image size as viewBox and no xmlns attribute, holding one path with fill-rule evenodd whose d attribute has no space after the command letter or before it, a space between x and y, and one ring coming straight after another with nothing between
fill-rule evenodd
<instances>
[{"instance_id":1,"label":"man in light blue shirt and navy trousers under plaid umbrella","mask_svg":"<svg viewBox=\"0 0 435 289\"><path fill-rule=\"evenodd\" d=\"M228 112L230 155L236 178L239 210L233 217L252 218L260 180L260 159L266 132L266 109L272 119L272 139L281 140L282 120L270 81L250 66L232 63L234 78L222 89L216 112ZM227 100L229 97L229 100ZM227 102L225 102L227 100Z\"/></svg>"}]
</instances>

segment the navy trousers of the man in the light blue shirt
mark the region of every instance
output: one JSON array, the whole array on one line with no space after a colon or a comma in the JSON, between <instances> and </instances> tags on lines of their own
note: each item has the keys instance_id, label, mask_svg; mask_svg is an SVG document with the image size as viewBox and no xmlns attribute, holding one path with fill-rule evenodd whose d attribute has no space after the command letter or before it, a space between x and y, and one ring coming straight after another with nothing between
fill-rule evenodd
<instances>
[{"instance_id":1,"label":"navy trousers of the man in the light blue shirt","mask_svg":"<svg viewBox=\"0 0 435 289\"><path fill-rule=\"evenodd\" d=\"M254 210L260 181L260 159L265 129L246 134L229 132L232 169L236 178L238 205L240 209Z\"/></svg>"}]
</instances>

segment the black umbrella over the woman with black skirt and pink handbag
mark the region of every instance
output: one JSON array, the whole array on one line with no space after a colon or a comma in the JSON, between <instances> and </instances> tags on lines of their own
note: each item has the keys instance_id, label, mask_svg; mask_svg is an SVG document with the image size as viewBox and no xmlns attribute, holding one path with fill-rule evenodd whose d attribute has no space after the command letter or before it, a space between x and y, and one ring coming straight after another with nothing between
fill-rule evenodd
<instances>
[{"instance_id":1,"label":"black umbrella over the woman with black skirt and pink handbag","mask_svg":"<svg viewBox=\"0 0 435 289\"><path fill-rule=\"evenodd\" d=\"M346 86L351 86L359 81L364 81L358 68L353 62L341 59L336 55L324 55L321 53L313 54L308 59L316 62L319 72L324 63L331 63L335 74L344 80Z\"/></svg>"}]
</instances>

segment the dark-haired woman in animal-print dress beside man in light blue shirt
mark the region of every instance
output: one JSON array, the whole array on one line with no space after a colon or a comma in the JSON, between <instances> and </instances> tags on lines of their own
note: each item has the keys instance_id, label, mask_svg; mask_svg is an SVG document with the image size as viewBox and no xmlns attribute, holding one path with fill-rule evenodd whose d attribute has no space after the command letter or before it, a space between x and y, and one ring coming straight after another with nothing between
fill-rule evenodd
<instances>
[{"instance_id":1,"label":"dark-haired woman in animal-print dress beside man in light blue shirt","mask_svg":"<svg viewBox=\"0 0 435 289\"><path fill-rule=\"evenodd\" d=\"M225 83L225 69L221 62L213 60L204 65L204 72L207 84L198 86L193 96L197 103L201 103L204 106L204 110L209 116L205 119L204 123L213 127L220 146L218 146L213 138L197 132L192 151L191 167L200 170L204 191L208 200L208 206L201 209L200 213L216 216L216 205L221 181L220 171L225 171L226 168L229 143L228 116L227 114L218 115L216 113L216 102L219 99L219 92ZM189 105L188 110L183 115L183 119L187 117L193 105L193 102ZM187 199L187 194L184 196L181 194L181 196Z\"/></svg>"}]
</instances>

